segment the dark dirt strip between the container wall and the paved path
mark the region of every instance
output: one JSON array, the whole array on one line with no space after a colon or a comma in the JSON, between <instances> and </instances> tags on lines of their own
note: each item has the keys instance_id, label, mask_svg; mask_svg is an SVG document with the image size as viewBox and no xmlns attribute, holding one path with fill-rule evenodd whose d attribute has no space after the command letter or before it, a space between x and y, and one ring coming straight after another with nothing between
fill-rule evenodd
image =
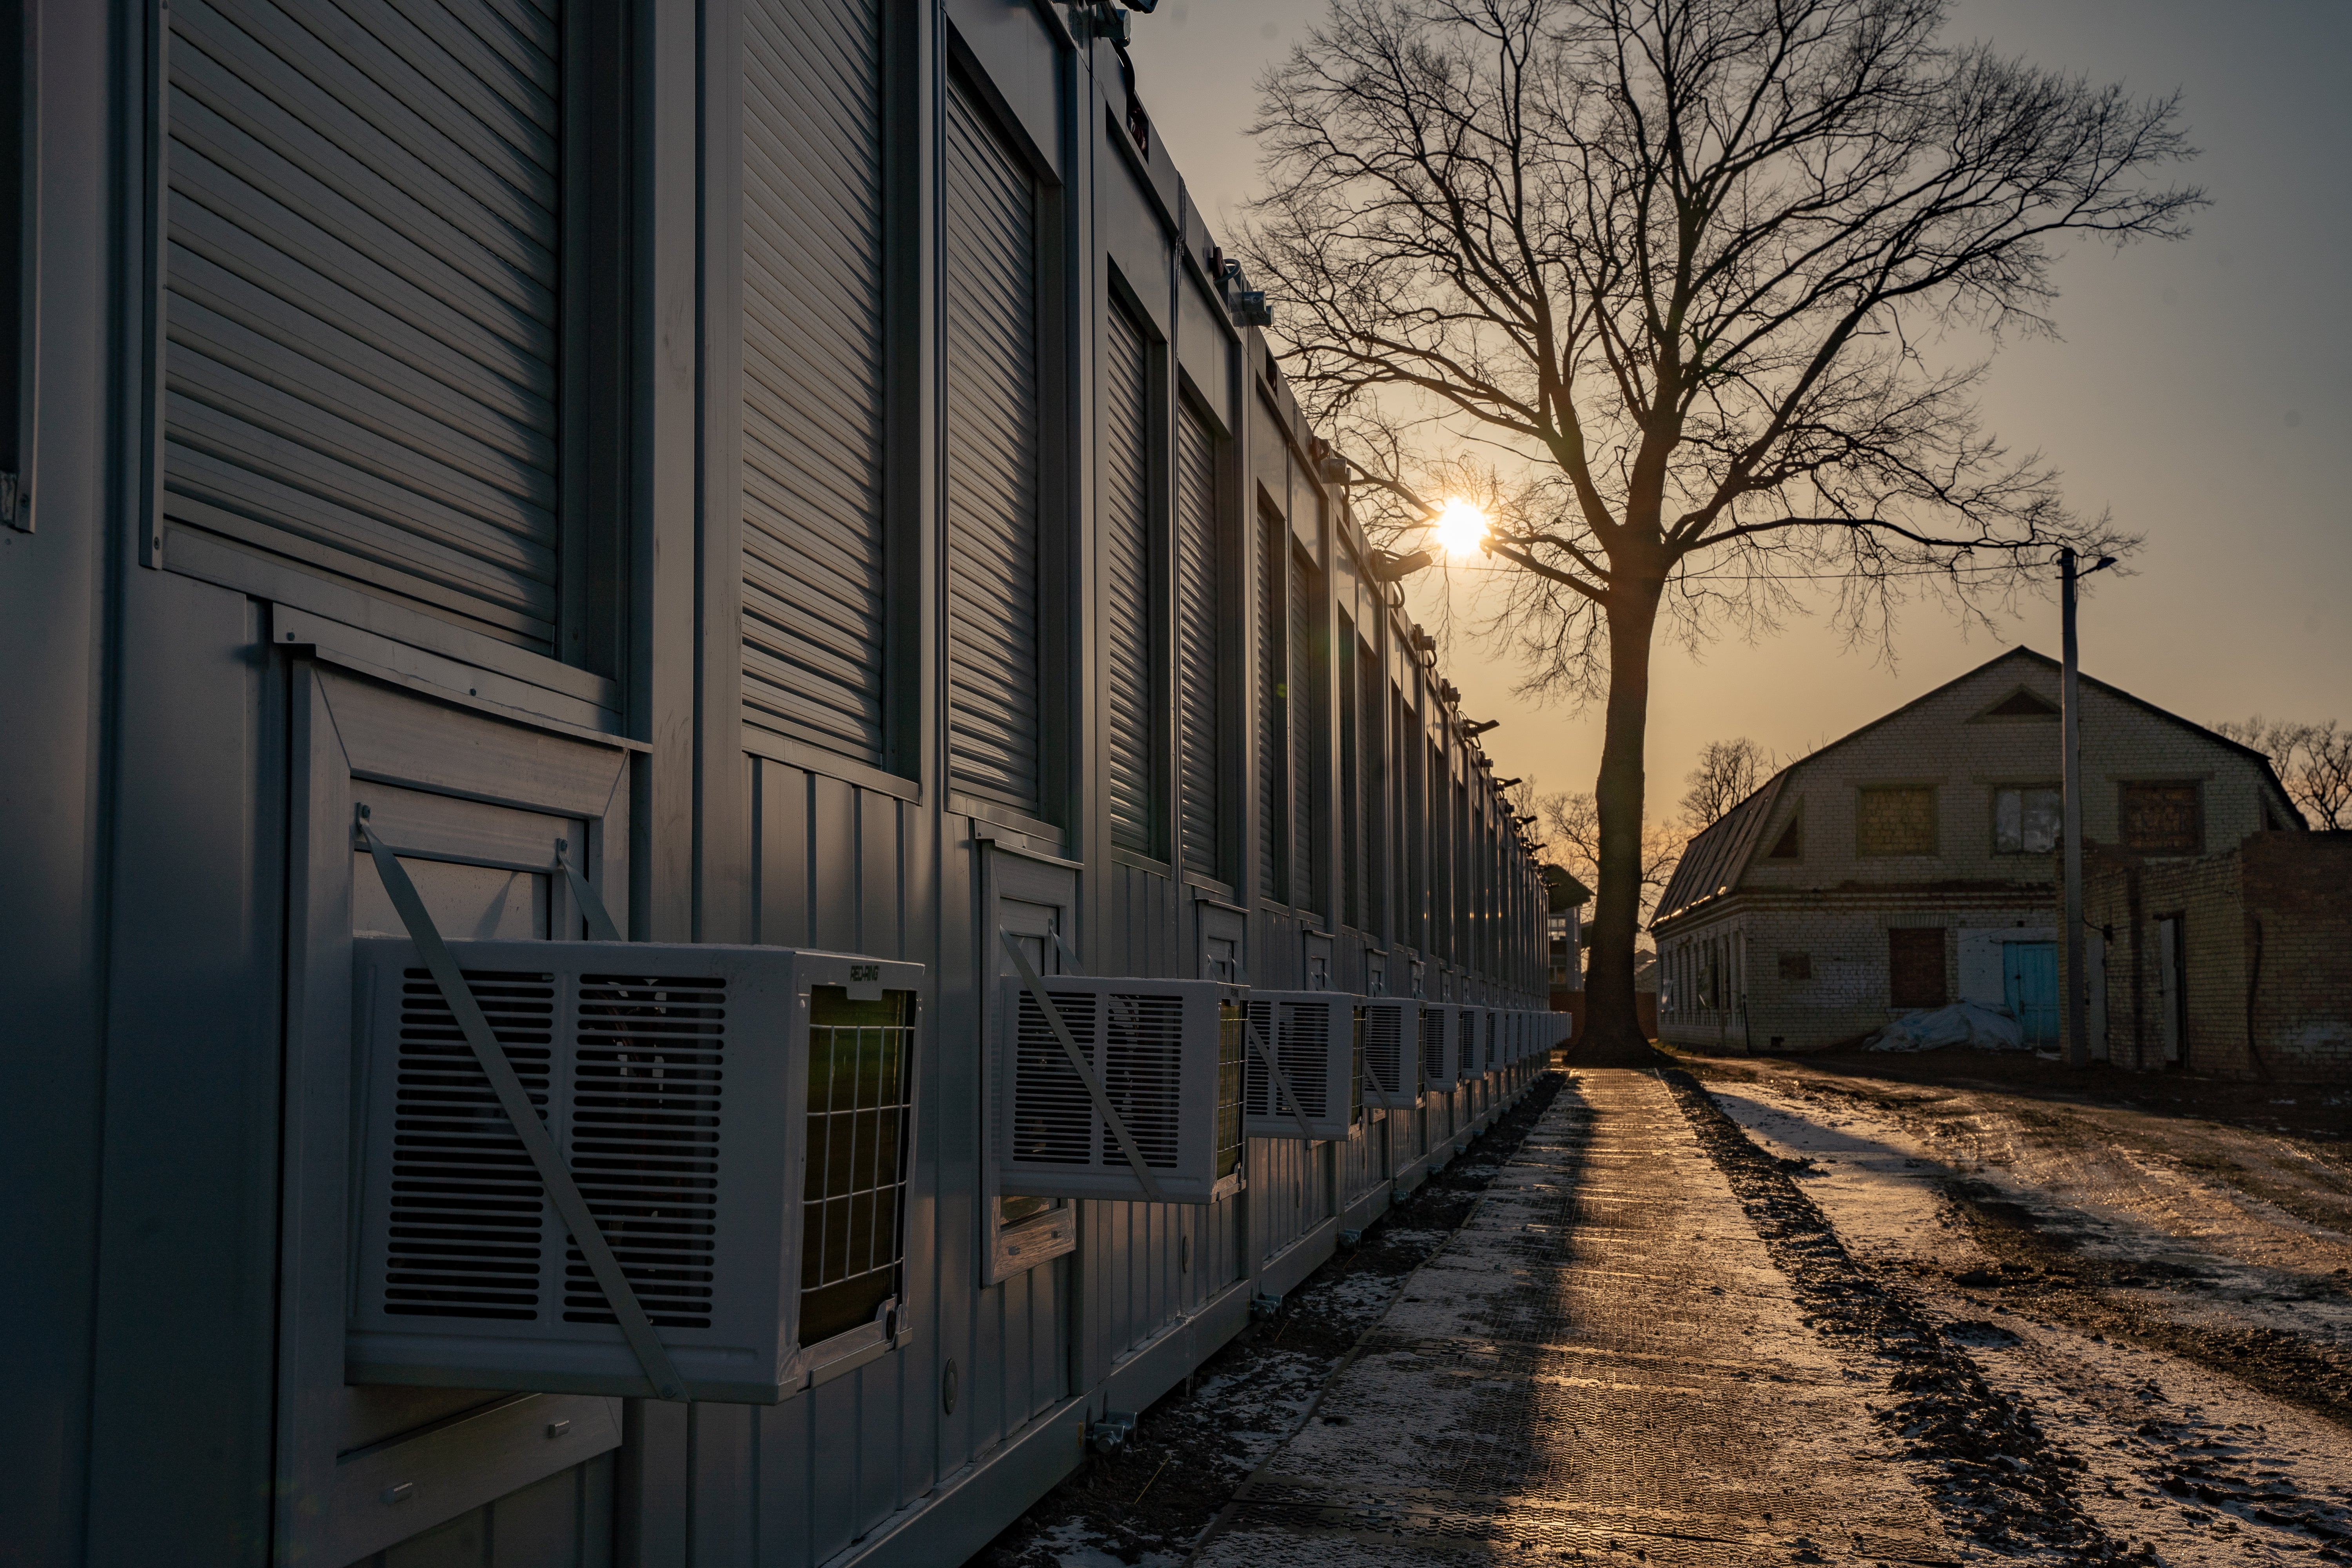
<instances>
[{"instance_id":1,"label":"dark dirt strip between the container wall and the paved path","mask_svg":"<svg viewBox=\"0 0 2352 1568\"><path fill-rule=\"evenodd\" d=\"M1298 1429L1324 1382L1381 1321L1404 1279L1444 1246L1552 1103L1538 1079L1486 1135L1430 1175L1136 1420L1115 1455L1089 1455L967 1568L1181 1563L1235 1488Z\"/></svg>"}]
</instances>

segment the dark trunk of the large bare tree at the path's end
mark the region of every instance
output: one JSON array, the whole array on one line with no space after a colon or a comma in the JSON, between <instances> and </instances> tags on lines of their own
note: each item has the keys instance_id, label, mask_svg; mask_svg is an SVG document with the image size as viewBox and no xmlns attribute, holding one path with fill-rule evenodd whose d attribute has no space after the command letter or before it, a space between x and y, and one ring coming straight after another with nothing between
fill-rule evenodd
<instances>
[{"instance_id":1,"label":"dark trunk of the large bare tree at the path's end","mask_svg":"<svg viewBox=\"0 0 2352 1568\"><path fill-rule=\"evenodd\" d=\"M1585 976L1585 1044L1578 1060L1635 1063L1649 1053L1632 999L1632 940L1642 919L1642 745L1649 738L1649 642L1658 592L1649 578L1609 595L1609 726L1602 738L1599 889L1592 905L1592 969Z\"/></svg>"}]
</instances>

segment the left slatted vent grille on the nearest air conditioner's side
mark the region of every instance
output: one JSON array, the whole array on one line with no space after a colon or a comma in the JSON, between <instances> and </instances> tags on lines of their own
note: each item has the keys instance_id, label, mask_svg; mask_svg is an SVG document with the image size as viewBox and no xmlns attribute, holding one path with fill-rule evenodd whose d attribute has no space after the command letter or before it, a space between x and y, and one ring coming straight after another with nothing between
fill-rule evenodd
<instances>
[{"instance_id":1,"label":"left slatted vent grille on the nearest air conditioner's side","mask_svg":"<svg viewBox=\"0 0 2352 1568\"><path fill-rule=\"evenodd\" d=\"M468 969L492 1034L546 1117L555 976ZM539 1316L546 1194L473 1046L423 969L400 973L383 1312Z\"/></svg>"}]
</instances>

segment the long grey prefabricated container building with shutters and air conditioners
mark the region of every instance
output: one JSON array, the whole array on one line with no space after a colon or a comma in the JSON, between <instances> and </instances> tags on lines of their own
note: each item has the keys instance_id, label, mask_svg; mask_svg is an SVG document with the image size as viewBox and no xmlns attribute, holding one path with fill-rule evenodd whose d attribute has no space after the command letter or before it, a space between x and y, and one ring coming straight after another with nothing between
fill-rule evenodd
<instances>
[{"instance_id":1,"label":"long grey prefabricated container building with shutters and air conditioners","mask_svg":"<svg viewBox=\"0 0 2352 1568\"><path fill-rule=\"evenodd\" d=\"M1526 1088L1122 21L0 5L12 1563L953 1566Z\"/></svg>"}]
</instances>

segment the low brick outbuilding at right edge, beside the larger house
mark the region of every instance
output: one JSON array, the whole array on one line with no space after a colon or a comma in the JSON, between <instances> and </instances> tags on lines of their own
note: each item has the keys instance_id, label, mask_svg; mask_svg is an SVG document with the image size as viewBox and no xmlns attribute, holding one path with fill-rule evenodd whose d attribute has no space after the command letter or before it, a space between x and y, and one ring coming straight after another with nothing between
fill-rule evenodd
<instances>
[{"instance_id":1,"label":"low brick outbuilding at right edge, beside the larger house","mask_svg":"<svg viewBox=\"0 0 2352 1568\"><path fill-rule=\"evenodd\" d=\"M2187 860L2084 849L2107 1060L2352 1081L2352 832L2256 832Z\"/></svg>"}]
</instances>

